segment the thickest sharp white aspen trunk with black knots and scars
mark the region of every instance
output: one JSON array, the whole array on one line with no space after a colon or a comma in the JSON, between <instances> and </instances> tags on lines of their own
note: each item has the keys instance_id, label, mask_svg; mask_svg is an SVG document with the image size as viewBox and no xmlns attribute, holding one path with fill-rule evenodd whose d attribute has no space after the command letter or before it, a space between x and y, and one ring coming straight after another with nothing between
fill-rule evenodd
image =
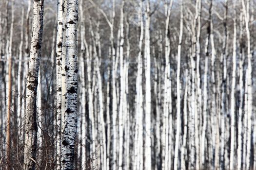
<instances>
[{"instance_id":1,"label":"thickest sharp white aspen trunk with black knots and scars","mask_svg":"<svg viewBox=\"0 0 256 170\"><path fill-rule=\"evenodd\" d=\"M73 169L74 147L77 133L77 89L78 89L78 67L77 67L77 22L78 22L78 0L68 0L65 16L65 126L62 132L61 146L61 169ZM62 66L63 67L63 66Z\"/></svg>"}]
</instances>

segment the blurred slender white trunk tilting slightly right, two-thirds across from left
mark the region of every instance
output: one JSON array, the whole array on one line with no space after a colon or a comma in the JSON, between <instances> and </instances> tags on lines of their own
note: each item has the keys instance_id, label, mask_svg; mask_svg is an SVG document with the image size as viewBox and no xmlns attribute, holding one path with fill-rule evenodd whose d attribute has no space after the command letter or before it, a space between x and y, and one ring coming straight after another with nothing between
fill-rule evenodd
<instances>
[{"instance_id":1,"label":"blurred slender white trunk tilting slightly right, two-thirds across from left","mask_svg":"<svg viewBox=\"0 0 256 170\"><path fill-rule=\"evenodd\" d=\"M178 40L178 51L177 51L177 128L176 128L176 137L175 137L175 155L174 155L174 170L178 168L178 154L179 154L179 136L181 132L181 104L180 104L180 57L181 57L181 44L182 44L182 35L183 35L183 0L180 4L180 28L179 28L179 40Z\"/></svg>"}]
</instances>

